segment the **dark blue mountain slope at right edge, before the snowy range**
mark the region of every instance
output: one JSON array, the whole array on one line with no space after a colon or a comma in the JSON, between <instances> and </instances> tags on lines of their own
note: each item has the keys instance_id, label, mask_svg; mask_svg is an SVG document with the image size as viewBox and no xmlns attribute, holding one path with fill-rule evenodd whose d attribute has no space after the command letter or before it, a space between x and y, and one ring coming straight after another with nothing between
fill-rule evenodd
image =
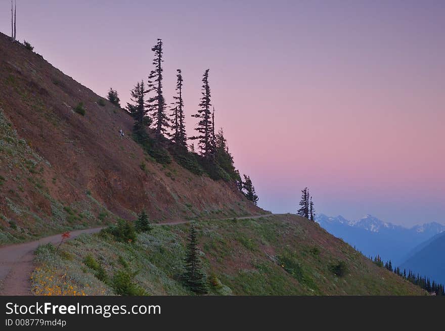
<instances>
[{"instance_id":1,"label":"dark blue mountain slope at right edge, before the snowy range","mask_svg":"<svg viewBox=\"0 0 445 331\"><path fill-rule=\"evenodd\" d=\"M432 280L445 283L445 233L416 247L401 268L420 273Z\"/></svg>"}]
</instances>

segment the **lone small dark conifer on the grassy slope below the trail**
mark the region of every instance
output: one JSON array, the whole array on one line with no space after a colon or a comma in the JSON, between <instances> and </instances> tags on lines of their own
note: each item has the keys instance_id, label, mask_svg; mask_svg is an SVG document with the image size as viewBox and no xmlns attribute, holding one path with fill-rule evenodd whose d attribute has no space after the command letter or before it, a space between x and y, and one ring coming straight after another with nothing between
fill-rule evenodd
<instances>
[{"instance_id":1,"label":"lone small dark conifer on the grassy slope below the trail","mask_svg":"<svg viewBox=\"0 0 445 331\"><path fill-rule=\"evenodd\" d=\"M207 293L206 277L205 273L202 271L201 260L199 258L197 232L193 225L190 227L185 267L186 272L184 273L184 280L186 286L195 293Z\"/></svg>"}]
</instances>

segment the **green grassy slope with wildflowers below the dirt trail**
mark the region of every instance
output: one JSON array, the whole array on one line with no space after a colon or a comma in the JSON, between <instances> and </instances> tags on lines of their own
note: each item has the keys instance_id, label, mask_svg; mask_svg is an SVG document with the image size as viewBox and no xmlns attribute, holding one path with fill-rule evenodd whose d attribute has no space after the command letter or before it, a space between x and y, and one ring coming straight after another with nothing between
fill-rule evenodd
<instances>
[{"instance_id":1,"label":"green grassy slope with wildflowers below the dirt trail","mask_svg":"<svg viewBox=\"0 0 445 331\"><path fill-rule=\"evenodd\" d=\"M82 262L91 254L109 278L123 268L120 255L132 271L139 271L136 281L148 294L190 294L179 280L189 226L155 226L133 244L84 235L64 244L59 253L40 249L33 274L34 293L112 294L113 290ZM318 224L295 215L200 221L197 226L211 294L425 294L376 266ZM339 261L348 268L342 277L330 268Z\"/></svg>"}]
</instances>

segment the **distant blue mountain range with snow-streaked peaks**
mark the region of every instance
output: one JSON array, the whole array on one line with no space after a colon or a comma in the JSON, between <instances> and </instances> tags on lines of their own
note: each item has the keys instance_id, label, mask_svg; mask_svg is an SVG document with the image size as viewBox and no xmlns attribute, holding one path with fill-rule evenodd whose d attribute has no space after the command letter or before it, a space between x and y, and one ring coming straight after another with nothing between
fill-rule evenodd
<instances>
[{"instance_id":1,"label":"distant blue mountain range with snow-streaked peaks","mask_svg":"<svg viewBox=\"0 0 445 331\"><path fill-rule=\"evenodd\" d=\"M405 261L408 253L417 245L445 231L445 225L430 222L406 228L385 222L370 214L358 220L343 216L317 215L317 222L328 232L355 246L363 254L380 255L393 265Z\"/></svg>"}]
</instances>

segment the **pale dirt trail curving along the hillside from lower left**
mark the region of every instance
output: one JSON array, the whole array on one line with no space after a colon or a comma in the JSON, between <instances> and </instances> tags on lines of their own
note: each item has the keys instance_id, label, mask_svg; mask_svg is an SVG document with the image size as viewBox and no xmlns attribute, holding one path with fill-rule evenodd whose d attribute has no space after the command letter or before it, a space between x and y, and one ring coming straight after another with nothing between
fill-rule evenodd
<instances>
[{"instance_id":1,"label":"pale dirt trail curving along the hillside from lower left","mask_svg":"<svg viewBox=\"0 0 445 331\"><path fill-rule=\"evenodd\" d=\"M268 217L273 214L243 216L237 219ZM166 223L157 223L153 225L176 225L191 222L171 221ZM83 233L96 233L101 227L71 231L70 239L76 238ZM58 244L61 240L61 234L51 235L41 238L34 242L14 244L0 247L0 295L32 295L30 290L30 274L34 269L33 258L34 251L39 245L48 243Z\"/></svg>"}]
</instances>

